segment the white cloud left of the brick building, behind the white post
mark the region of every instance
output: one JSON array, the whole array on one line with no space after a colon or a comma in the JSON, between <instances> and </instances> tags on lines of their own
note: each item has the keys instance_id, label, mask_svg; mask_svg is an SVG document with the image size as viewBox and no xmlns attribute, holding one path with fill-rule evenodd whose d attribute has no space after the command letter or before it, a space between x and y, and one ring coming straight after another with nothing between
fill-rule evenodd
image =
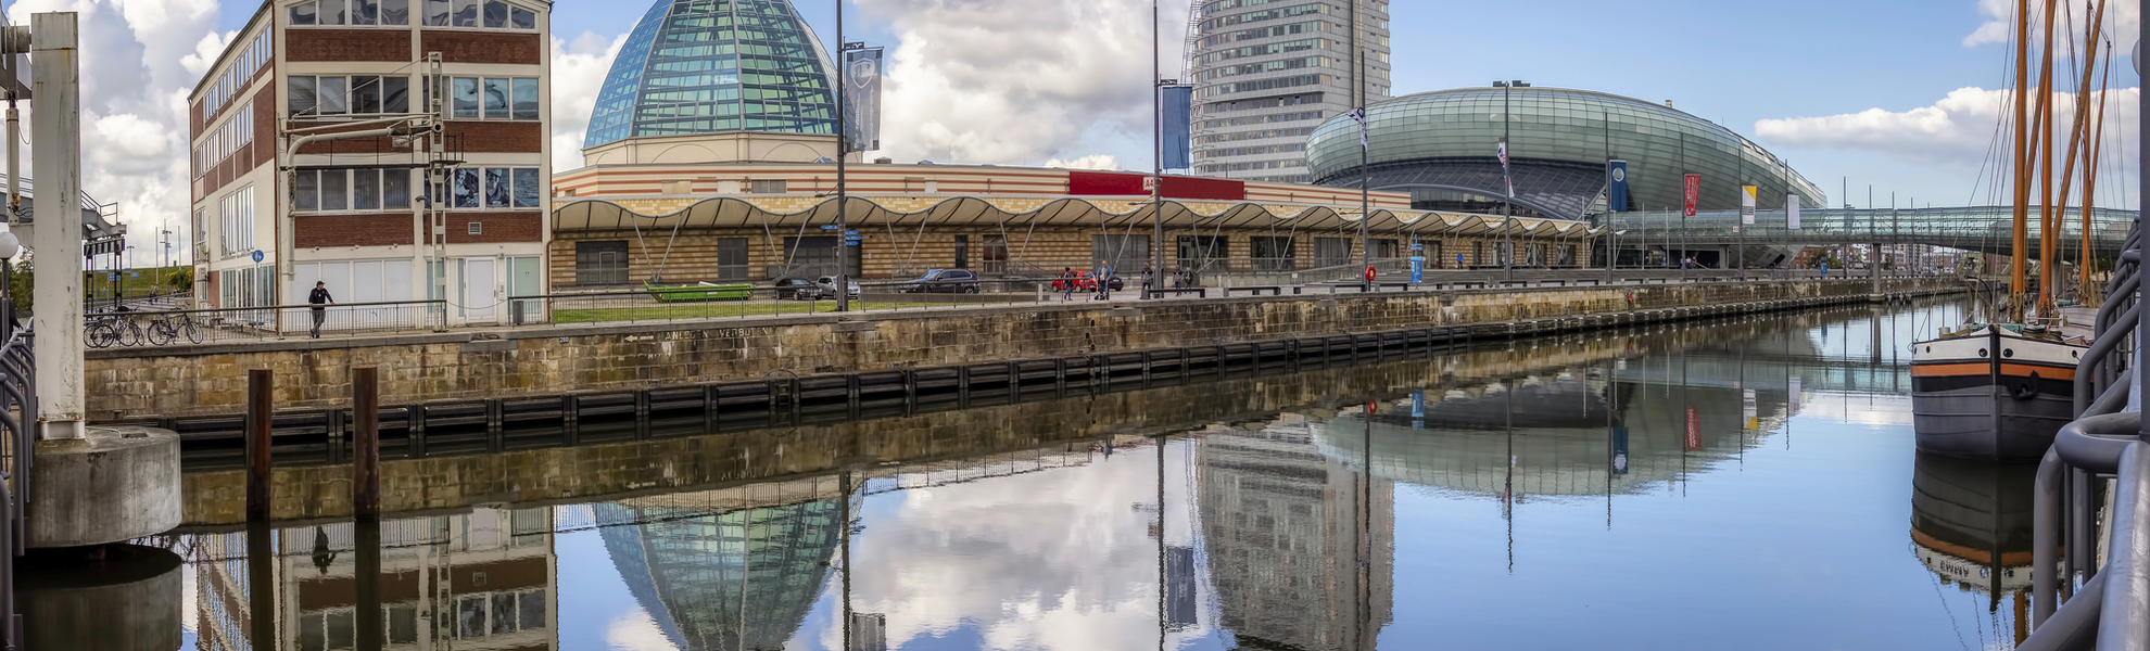
<instances>
[{"instance_id":1,"label":"white cloud left of the brick building, behind the white post","mask_svg":"<svg viewBox=\"0 0 2150 651\"><path fill-rule=\"evenodd\" d=\"M187 92L224 49L215 0L19 0L9 17L75 11L82 43L82 185L118 204L138 262L153 264L157 230L187 243ZM206 37L204 37L206 34ZM24 120L37 110L32 101ZM28 125L24 127L28 131ZM24 174L30 174L24 161ZM32 176L34 178L34 176Z\"/></svg>"}]
</instances>

